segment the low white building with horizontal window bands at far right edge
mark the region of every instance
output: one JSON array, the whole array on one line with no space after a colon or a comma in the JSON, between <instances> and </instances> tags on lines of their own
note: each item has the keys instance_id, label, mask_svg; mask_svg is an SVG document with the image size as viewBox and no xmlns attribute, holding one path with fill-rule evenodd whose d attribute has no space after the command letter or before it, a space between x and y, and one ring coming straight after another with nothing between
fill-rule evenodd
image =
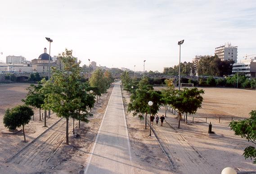
<instances>
[{"instance_id":1,"label":"low white building with horizontal window bands at far right edge","mask_svg":"<svg viewBox=\"0 0 256 174\"><path fill-rule=\"evenodd\" d=\"M234 63L232 73L243 72L246 76L256 77L256 57L241 60L240 63Z\"/></svg>"}]
</instances>

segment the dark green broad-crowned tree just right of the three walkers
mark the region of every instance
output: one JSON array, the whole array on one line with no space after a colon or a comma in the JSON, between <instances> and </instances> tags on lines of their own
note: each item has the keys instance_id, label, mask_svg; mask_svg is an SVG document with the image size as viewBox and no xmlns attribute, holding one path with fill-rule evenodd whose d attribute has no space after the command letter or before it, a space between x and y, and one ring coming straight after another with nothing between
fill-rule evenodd
<instances>
[{"instance_id":1,"label":"dark green broad-crowned tree just right of the three walkers","mask_svg":"<svg viewBox=\"0 0 256 174\"><path fill-rule=\"evenodd\" d=\"M202 89L197 88L184 88L183 90L175 90L175 95L173 95L171 100L171 106L174 109L178 110L179 116L178 116L178 128L180 129L180 118L181 114L186 113L186 119L187 114L194 114L197 112L198 108L202 107L202 101L203 97L202 94L204 94L204 91ZM187 121L186 121L187 122Z\"/></svg>"}]
</instances>

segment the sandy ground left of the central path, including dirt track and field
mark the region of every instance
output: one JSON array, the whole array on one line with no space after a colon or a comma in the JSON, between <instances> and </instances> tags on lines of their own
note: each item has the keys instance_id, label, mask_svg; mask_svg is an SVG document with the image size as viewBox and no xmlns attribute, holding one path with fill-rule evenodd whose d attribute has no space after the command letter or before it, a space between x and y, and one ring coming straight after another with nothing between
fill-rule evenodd
<instances>
[{"instance_id":1,"label":"sandy ground left of the central path, including dirt track and field","mask_svg":"<svg viewBox=\"0 0 256 174\"><path fill-rule=\"evenodd\" d=\"M9 87L3 87L6 91L14 93L13 98L8 99L10 103L13 101L20 101L21 98L26 96L26 90L23 89L28 85L19 85L20 84L12 84ZM16 94L16 92L18 94ZM112 87L108 90L107 94L104 94L101 97L99 103L95 104L94 109L92 109L94 117L90 118L90 122L88 124L81 123L81 129L76 128L76 134L79 134L79 136L75 137L72 136L72 134L69 135L70 145L68 146L62 144L65 140L66 124L65 120L60 120L51 129L47 130L47 133L38 138L35 143L32 143L24 151L18 154L18 156L15 156L9 162L5 162L27 143L22 142L23 136L21 132L17 134L0 134L0 173L82 173L111 92ZM20 93L22 93L22 95L19 95ZM7 95L7 93L5 94ZM1 98L1 100L3 101L3 98ZM20 103L17 102L12 106ZM8 106L8 104L4 105L2 110L6 109L6 106ZM58 120L59 118L56 118L54 115L52 115L50 119L47 118L48 127ZM71 132L72 120L69 122L69 129ZM75 125L77 125L77 121L75 122ZM29 125L25 127L27 140L29 142L47 129L42 128L42 126L43 121L39 121L38 113L35 115L35 121L31 121ZM6 144L9 144L9 146L6 146ZM52 157L50 158L50 156ZM24 168L24 166L26 166L26 168Z\"/></svg>"}]
</instances>

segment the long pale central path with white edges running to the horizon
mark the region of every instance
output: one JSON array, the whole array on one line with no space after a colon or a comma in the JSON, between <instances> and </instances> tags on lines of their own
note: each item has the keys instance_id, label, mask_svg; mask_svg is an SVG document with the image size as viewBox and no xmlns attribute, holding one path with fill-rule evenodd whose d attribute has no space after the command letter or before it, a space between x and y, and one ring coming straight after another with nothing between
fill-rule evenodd
<instances>
[{"instance_id":1,"label":"long pale central path with white edges running to the horizon","mask_svg":"<svg viewBox=\"0 0 256 174\"><path fill-rule=\"evenodd\" d=\"M113 88L85 173L134 173L120 82Z\"/></svg>"}]
</instances>

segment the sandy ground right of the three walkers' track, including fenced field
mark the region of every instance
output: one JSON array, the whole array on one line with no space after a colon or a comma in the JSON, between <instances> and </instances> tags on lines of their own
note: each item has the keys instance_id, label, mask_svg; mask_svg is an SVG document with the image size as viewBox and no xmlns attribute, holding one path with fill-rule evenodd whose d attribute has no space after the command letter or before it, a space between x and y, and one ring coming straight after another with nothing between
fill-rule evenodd
<instances>
[{"instance_id":1,"label":"sandy ground right of the three walkers' track, including fenced field","mask_svg":"<svg viewBox=\"0 0 256 174\"><path fill-rule=\"evenodd\" d=\"M195 149L202 154L202 157L211 164L211 169L220 173L225 167L233 167L237 171L256 171L256 165L252 165L250 159L245 160L242 156L245 147L252 145L245 139L235 136L229 128L231 118L222 117L249 117L248 113L256 109L256 91L228 88L204 88L204 102L202 108L193 116L221 117L213 119L194 118L188 116L189 124L181 121L181 129L174 129L176 134L181 134ZM161 108L159 115L165 113ZM167 112L166 121L172 128L177 127L177 116ZM212 130L216 136L208 135L209 122L212 123ZM166 129L168 125L165 125ZM165 130L162 130L165 131ZM175 156L175 155L174 155Z\"/></svg>"}]
</instances>

